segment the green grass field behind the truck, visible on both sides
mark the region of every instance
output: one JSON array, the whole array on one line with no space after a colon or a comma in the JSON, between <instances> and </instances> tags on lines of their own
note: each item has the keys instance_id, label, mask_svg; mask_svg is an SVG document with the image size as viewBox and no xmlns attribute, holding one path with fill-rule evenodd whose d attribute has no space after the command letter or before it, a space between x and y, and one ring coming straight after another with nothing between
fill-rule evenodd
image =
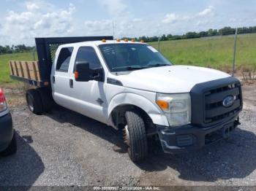
<instances>
[{"instance_id":1,"label":"green grass field behind the truck, visible on both sides","mask_svg":"<svg viewBox=\"0 0 256 191\"><path fill-rule=\"evenodd\" d=\"M157 42L151 42L157 48ZM230 71L233 62L233 36L214 36L160 42L160 51L175 64L206 66ZM29 52L0 55L0 87L16 84L10 79L8 61L33 61ZM238 69L256 67L256 34L239 35L236 66Z\"/></svg>"}]
</instances>

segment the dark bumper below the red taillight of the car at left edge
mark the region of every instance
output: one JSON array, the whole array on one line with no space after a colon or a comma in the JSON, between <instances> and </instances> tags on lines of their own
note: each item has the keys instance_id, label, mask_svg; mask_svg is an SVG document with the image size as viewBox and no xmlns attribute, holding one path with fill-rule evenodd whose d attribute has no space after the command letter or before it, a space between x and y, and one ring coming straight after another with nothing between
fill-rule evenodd
<instances>
[{"instance_id":1,"label":"dark bumper below the red taillight of the car at left edge","mask_svg":"<svg viewBox=\"0 0 256 191\"><path fill-rule=\"evenodd\" d=\"M10 142L12 141L13 128L12 128L12 116L6 114L0 117L0 152L7 149Z\"/></svg>"}]
</instances>

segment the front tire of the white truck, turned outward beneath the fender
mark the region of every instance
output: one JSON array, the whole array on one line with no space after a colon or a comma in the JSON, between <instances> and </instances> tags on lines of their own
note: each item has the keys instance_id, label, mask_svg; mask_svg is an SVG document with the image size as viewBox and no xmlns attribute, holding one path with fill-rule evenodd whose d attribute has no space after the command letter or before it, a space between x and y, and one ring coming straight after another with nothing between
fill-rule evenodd
<instances>
[{"instance_id":1,"label":"front tire of the white truck, turned outward beneath the fender","mask_svg":"<svg viewBox=\"0 0 256 191\"><path fill-rule=\"evenodd\" d=\"M127 111L125 114L127 125L124 127L124 141L128 145L128 155L133 162L141 162L148 155L148 141L146 127L136 111Z\"/></svg>"}]
</instances>

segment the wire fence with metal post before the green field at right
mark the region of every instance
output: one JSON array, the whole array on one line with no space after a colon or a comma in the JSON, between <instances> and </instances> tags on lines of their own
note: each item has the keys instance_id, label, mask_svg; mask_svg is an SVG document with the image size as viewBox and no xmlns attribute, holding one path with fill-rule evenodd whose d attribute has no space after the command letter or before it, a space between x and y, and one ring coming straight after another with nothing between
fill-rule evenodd
<instances>
[{"instance_id":1,"label":"wire fence with metal post before the green field at right","mask_svg":"<svg viewBox=\"0 0 256 191\"><path fill-rule=\"evenodd\" d=\"M256 34L236 34L149 44L174 64L218 69L246 82L256 81Z\"/></svg>"}]
</instances>

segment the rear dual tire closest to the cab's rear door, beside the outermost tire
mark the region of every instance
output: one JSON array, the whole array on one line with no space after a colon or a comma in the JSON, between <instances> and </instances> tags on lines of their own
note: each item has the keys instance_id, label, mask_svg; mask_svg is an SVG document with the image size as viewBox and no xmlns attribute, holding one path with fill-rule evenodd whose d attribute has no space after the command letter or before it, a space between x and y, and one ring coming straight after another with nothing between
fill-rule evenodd
<instances>
[{"instance_id":1,"label":"rear dual tire closest to the cab's rear door, beside the outermost tire","mask_svg":"<svg viewBox=\"0 0 256 191\"><path fill-rule=\"evenodd\" d=\"M50 90L48 88L37 88L37 92L42 101L42 111L50 112L53 107L53 100L51 98Z\"/></svg>"}]
</instances>

